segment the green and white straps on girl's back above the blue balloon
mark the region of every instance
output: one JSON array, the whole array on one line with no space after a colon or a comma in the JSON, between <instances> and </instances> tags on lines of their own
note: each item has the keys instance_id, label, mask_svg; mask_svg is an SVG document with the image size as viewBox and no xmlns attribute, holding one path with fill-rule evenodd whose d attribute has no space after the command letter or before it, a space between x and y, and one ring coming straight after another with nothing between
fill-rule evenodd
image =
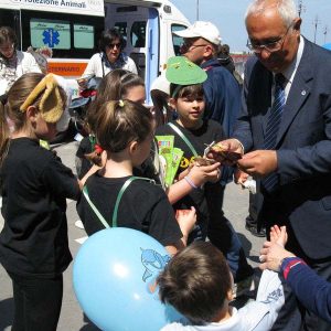
<instances>
[{"instance_id":1,"label":"green and white straps on girl's back above the blue balloon","mask_svg":"<svg viewBox=\"0 0 331 331\"><path fill-rule=\"evenodd\" d=\"M125 193L125 191L127 190L127 188L130 185L130 183L135 180L145 180L145 181L149 181L150 183L154 183L153 180L148 179L148 178L143 178L143 177L130 177L129 179L126 180L126 182L124 183L124 185L121 186L120 191L118 192L116 202L115 202L115 207L114 207L114 212L113 212L113 217L111 217L111 227L117 227L117 214L118 214L118 206L120 203L120 200L122 197L122 194ZM95 206L95 204L90 201L89 196L88 196L88 190L87 186L85 185L83 188L83 194L86 199L86 201L88 202L89 206L92 207L92 210L95 212L95 214L97 215L97 217L99 218L99 221L103 223L103 225L106 228L109 228L109 224L108 222L105 220L105 217L100 214L100 212L98 211L98 209Z\"/></svg>"}]
</instances>

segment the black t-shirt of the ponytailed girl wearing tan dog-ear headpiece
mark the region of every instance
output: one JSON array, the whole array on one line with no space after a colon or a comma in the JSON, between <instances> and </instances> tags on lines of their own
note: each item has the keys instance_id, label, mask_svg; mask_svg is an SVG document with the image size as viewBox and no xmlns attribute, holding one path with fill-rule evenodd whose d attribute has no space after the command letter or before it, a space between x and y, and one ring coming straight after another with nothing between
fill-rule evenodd
<instances>
[{"instance_id":1,"label":"black t-shirt of the ponytailed girl wearing tan dog-ear headpiece","mask_svg":"<svg viewBox=\"0 0 331 331\"><path fill-rule=\"evenodd\" d=\"M54 277L72 260L66 197L77 200L77 179L53 152L29 138L12 139L0 171L0 260L23 276Z\"/></svg>"}]
</instances>

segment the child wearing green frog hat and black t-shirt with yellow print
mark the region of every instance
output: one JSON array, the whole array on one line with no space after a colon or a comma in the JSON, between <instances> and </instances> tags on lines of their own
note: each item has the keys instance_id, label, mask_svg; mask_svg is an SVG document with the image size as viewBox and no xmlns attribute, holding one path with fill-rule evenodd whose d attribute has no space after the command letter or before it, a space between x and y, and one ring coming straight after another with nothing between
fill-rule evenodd
<instances>
[{"instance_id":1,"label":"child wearing green frog hat and black t-shirt with yellow print","mask_svg":"<svg viewBox=\"0 0 331 331\"><path fill-rule=\"evenodd\" d=\"M204 241L210 217L209 202L215 206L215 201L207 201L209 191L218 185L221 169L212 182L197 186L190 178L190 169L196 157L204 153L206 145L223 139L224 132L220 124L214 120L204 120L205 102L202 83L206 79L206 73L184 56L174 56L168 61L167 79L170 84L170 104L177 110L178 119L157 129L157 135L173 135L174 146L183 150L177 179L185 179L194 189L190 194L175 203L174 209L196 210L197 222L190 234L189 243L195 239ZM213 207L214 209L214 207ZM221 209L220 209L221 210Z\"/></svg>"}]
</instances>

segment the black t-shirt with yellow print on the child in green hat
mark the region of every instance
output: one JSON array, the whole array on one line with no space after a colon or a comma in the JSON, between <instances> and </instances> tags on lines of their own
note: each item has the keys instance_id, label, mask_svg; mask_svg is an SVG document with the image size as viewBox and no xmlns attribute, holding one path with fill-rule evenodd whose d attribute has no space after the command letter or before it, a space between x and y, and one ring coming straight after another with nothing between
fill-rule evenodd
<instances>
[{"instance_id":1,"label":"black t-shirt with yellow print on the child in green hat","mask_svg":"<svg viewBox=\"0 0 331 331\"><path fill-rule=\"evenodd\" d=\"M196 130L190 130L181 127L177 121L172 121L189 139L189 141L194 147L199 156L203 156L204 149L207 145L213 141L221 141L225 139L225 135L222 126L214 120L204 120L203 125ZM174 136L174 147L180 148L184 154L182 157L180 168L177 172L177 177L190 166L190 162L194 160L194 154L189 148L186 142L169 126L164 125L157 129L156 136ZM220 190L213 190L215 186L220 186L220 183L205 183L203 188L195 189L191 191L190 194L185 195L179 202L177 202L173 207L175 210L190 209L192 205L196 210L197 224L202 231L202 238L205 238L207 231L207 222L210 218L209 204L221 205L220 194L206 194L210 192L220 192ZM209 197L209 201L206 200ZM212 200L212 201L211 201ZM222 210L222 207L221 207ZM200 236L200 235L199 235Z\"/></svg>"}]
</instances>

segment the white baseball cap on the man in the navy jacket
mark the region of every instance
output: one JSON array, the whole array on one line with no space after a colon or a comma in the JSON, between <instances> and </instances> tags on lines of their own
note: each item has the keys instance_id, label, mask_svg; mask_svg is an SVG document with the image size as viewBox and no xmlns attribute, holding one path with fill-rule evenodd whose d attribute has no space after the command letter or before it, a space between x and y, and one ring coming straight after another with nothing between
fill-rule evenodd
<instances>
[{"instance_id":1,"label":"white baseball cap on the man in the navy jacket","mask_svg":"<svg viewBox=\"0 0 331 331\"><path fill-rule=\"evenodd\" d=\"M196 21L185 30L173 32L182 38L203 38L214 45L221 44L221 35L218 29L211 22Z\"/></svg>"}]
</instances>

